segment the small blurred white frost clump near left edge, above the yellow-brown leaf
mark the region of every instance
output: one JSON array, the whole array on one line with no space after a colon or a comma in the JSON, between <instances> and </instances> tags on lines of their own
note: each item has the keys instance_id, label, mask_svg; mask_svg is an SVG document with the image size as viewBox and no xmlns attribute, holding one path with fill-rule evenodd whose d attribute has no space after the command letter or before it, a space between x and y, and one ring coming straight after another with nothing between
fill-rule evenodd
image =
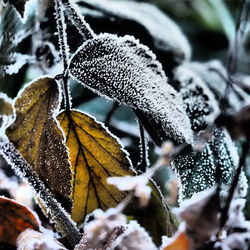
<instances>
[{"instance_id":1,"label":"small blurred white frost clump near left edge, above the yellow-brown leaf","mask_svg":"<svg viewBox=\"0 0 250 250\"><path fill-rule=\"evenodd\" d=\"M4 67L4 71L8 75L17 74L18 71L30 61L30 56L22 55L20 53L13 53L11 58L15 60L15 63Z\"/></svg>"}]
</instances>

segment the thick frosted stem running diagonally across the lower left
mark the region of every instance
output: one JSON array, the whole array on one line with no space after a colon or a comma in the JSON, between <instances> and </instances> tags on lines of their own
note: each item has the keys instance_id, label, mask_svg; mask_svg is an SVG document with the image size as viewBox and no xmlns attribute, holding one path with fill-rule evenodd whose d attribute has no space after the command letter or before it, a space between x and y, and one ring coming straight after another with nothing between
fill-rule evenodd
<instances>
[{"instance_id":1,"label":"thick frosted stem running diagonally across the lower left","mask_svg":"<svg viewBox=\"0 0 250 250\"><path fill-rule=\"evenodd\" d=\"M71 220L70 215L64 210L61 204L56 201L51 192L32 170L31 166L5 136L0 136L0 155L4 157L18 176L25 178L34 188L46 205L51 220L60 227L69 244L75 246L81 239L81 234L75 222Z\"/></svg>"}]
</instances>

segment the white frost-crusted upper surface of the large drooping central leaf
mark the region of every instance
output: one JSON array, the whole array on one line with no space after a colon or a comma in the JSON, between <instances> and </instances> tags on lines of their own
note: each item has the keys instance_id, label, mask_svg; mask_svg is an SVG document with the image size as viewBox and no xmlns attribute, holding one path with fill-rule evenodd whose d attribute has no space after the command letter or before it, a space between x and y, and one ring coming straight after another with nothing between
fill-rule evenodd
<instances>
[{"instance_id":1,"label":"white frost-crusted upper surface of the large drooping central leaf","mask_svg":"<svg viewBox=\"0 0 250 250\"><path fill-rule=\"evenodd\" d=\"M142 110L160 123L170 138L192 143L190 121L161 64L134 37L101 34L73 55L69 70L84 85Z\"/></svg>"}]
</instances>

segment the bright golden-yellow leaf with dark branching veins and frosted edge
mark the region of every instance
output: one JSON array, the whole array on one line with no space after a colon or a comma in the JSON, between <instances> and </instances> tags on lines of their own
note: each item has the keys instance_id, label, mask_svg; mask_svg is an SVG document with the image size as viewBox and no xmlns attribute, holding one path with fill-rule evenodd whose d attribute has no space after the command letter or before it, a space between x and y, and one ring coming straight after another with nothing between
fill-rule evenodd
<instances>
[{"instance_id":1,"label":"bright golden-yellow leaf with dark branching veins and frosted edge","mask_svg":"<svg viewBox=\"0 0 250 250\"><path fill-rule=\"evenodd\" d=\"M111 176L134 175L117 139L90 116L64 111L58 121L66 135L73 177L72 219L83 222L96 208L115 207L126 192L106 180Z\"/></svg>"}]
</instances>

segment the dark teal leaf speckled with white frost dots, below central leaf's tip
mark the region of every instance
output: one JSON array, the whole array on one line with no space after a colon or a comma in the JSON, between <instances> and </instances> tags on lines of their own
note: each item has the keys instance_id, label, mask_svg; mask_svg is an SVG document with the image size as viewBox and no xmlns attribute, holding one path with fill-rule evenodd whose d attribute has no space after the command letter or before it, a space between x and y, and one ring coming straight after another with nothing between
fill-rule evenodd
<instances>
[{"instance_id":1,"label":"dark teal leaf speckled with white frost dots, below central leaf's tip","mask_svg":"<svg viewBox=\"0 0 250 250\"><path fill-rule=\"evenodd\" d=\"M190 198L194 193L208 189L216 183L218 176L215 162L218 164L222 183L228 184L238 166L238 153L226 131L217 128L201 152L192 152L174 160L173 169L181 182L180 200ZM241 174L238 192L242 196L246 192L244 173Z\"/></svg>"}]
</instances>

